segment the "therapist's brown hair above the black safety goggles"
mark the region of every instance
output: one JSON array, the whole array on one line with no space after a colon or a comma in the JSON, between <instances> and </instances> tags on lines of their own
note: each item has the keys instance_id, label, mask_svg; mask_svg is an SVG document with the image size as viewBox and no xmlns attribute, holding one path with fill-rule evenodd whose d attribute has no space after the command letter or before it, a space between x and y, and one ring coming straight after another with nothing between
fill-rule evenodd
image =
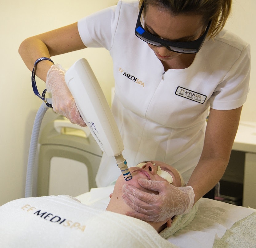
<instances>
[{"instance_id":1,"label":"therapist's brown hair above the black safety goggles","mask_svg":"<svg viewBox=\"0 0 256 248\"><path fill-rule=\"evenodd\" d=\"M207 34L208 37L212 38L224 27L230 14L232 0L139 0L139 8L143 2L144 13L148 5L153 5L166 8L174 15L202 15L205 24L212 20Z\"/></svg>"}]
</instances>

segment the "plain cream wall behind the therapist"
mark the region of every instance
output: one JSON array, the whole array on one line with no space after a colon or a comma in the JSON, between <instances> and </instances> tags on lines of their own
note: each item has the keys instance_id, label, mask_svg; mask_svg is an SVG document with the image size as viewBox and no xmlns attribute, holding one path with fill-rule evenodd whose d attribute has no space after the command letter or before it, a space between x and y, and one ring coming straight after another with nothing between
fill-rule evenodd
<instances>
[{"instance_id":1,"label":"plain cream wall behind the therapist","mask_svg":"<svg viewBox=\"0 0 256 248\"><path fill-rule=\"evenodd\" d=\"M233 0L234 11L227 27L251 44L251 91L242 111L242 120L256 122L255 97L255 0ZM66 2L66 3L65 3ZM117 0L74 1L7 1L0 4L0 71L1 71L1 149L0 205L24 197L26 164L30 135L41 100L34 95L31 73L18 54L20 43L27 37L76 22L96 10L114 5ZM106 98L110 102L109 85L113 85L112 62L104 49L86 49L53 57L65 68L85 57L92 66ZM39 92L44 83L37 80ZM54 119L52 110L46 112L43 125Z\"/></svg>"}]
</instances>

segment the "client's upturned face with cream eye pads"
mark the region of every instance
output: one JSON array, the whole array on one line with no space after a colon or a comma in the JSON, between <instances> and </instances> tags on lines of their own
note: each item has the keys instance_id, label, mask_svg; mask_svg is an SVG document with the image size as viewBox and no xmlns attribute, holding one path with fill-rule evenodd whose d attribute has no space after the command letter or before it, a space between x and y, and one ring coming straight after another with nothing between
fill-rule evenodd
<instances>
[{"instance_id":1,"label":"client's upturned face with cream eye pads","mask_svg":"<svg viewBox=\"0 0 256 248\"><path fill-rule=\"evenodd\" d=\"M176 187L181 186L181 180L177 170L166 163L159 161L146 161L139 163L137 166L129 168L130 173L132 174L132 179L126 181L123 175L120 175L115 184L115 188L122 190L122 186L124 184L130 184L145 192L158 193L142 188L138 183L138 179L140 178L152 181L167 181Z\"/></svg>"}]
</instances>

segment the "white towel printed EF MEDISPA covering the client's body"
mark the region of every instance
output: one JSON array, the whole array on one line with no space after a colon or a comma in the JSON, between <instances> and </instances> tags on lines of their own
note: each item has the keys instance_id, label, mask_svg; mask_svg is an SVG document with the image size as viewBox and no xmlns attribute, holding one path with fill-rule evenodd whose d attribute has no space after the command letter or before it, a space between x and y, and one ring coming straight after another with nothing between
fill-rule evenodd
<instances>
[{"instance_id":1,"label":"white towel printed EF MEDISPA covering the client's body","mask_svg":"<svg viewBox=\"0 0 256 248\"><path fill-rule=\"evenodd\" d=\"M0 247L177 247L148 223L69 196L22 198L0 207Z\"/></svg>"}]
</instances>

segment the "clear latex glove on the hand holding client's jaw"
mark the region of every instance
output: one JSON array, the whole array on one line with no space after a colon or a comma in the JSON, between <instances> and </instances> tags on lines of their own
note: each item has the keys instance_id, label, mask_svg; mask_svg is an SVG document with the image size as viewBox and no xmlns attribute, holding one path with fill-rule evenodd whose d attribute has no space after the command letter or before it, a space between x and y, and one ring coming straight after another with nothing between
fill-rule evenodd
<instances>
[{"instance_id":1,"label":"clear latex glove on the hand holding client's jaw","mask_svg":"<svg viewBox=\"0 0 256 248\"><path fill-rule=\"evenodd\" d=\"M145 189L158 191L150 194L136 187L124 184L123 199L136 212L126 215L146 221L165 221L174 215L185 214L194 204L194 190L191 186L175 187L166 181L151 181L140 178L138 183Z\"/></svg>"}]
</instances>

